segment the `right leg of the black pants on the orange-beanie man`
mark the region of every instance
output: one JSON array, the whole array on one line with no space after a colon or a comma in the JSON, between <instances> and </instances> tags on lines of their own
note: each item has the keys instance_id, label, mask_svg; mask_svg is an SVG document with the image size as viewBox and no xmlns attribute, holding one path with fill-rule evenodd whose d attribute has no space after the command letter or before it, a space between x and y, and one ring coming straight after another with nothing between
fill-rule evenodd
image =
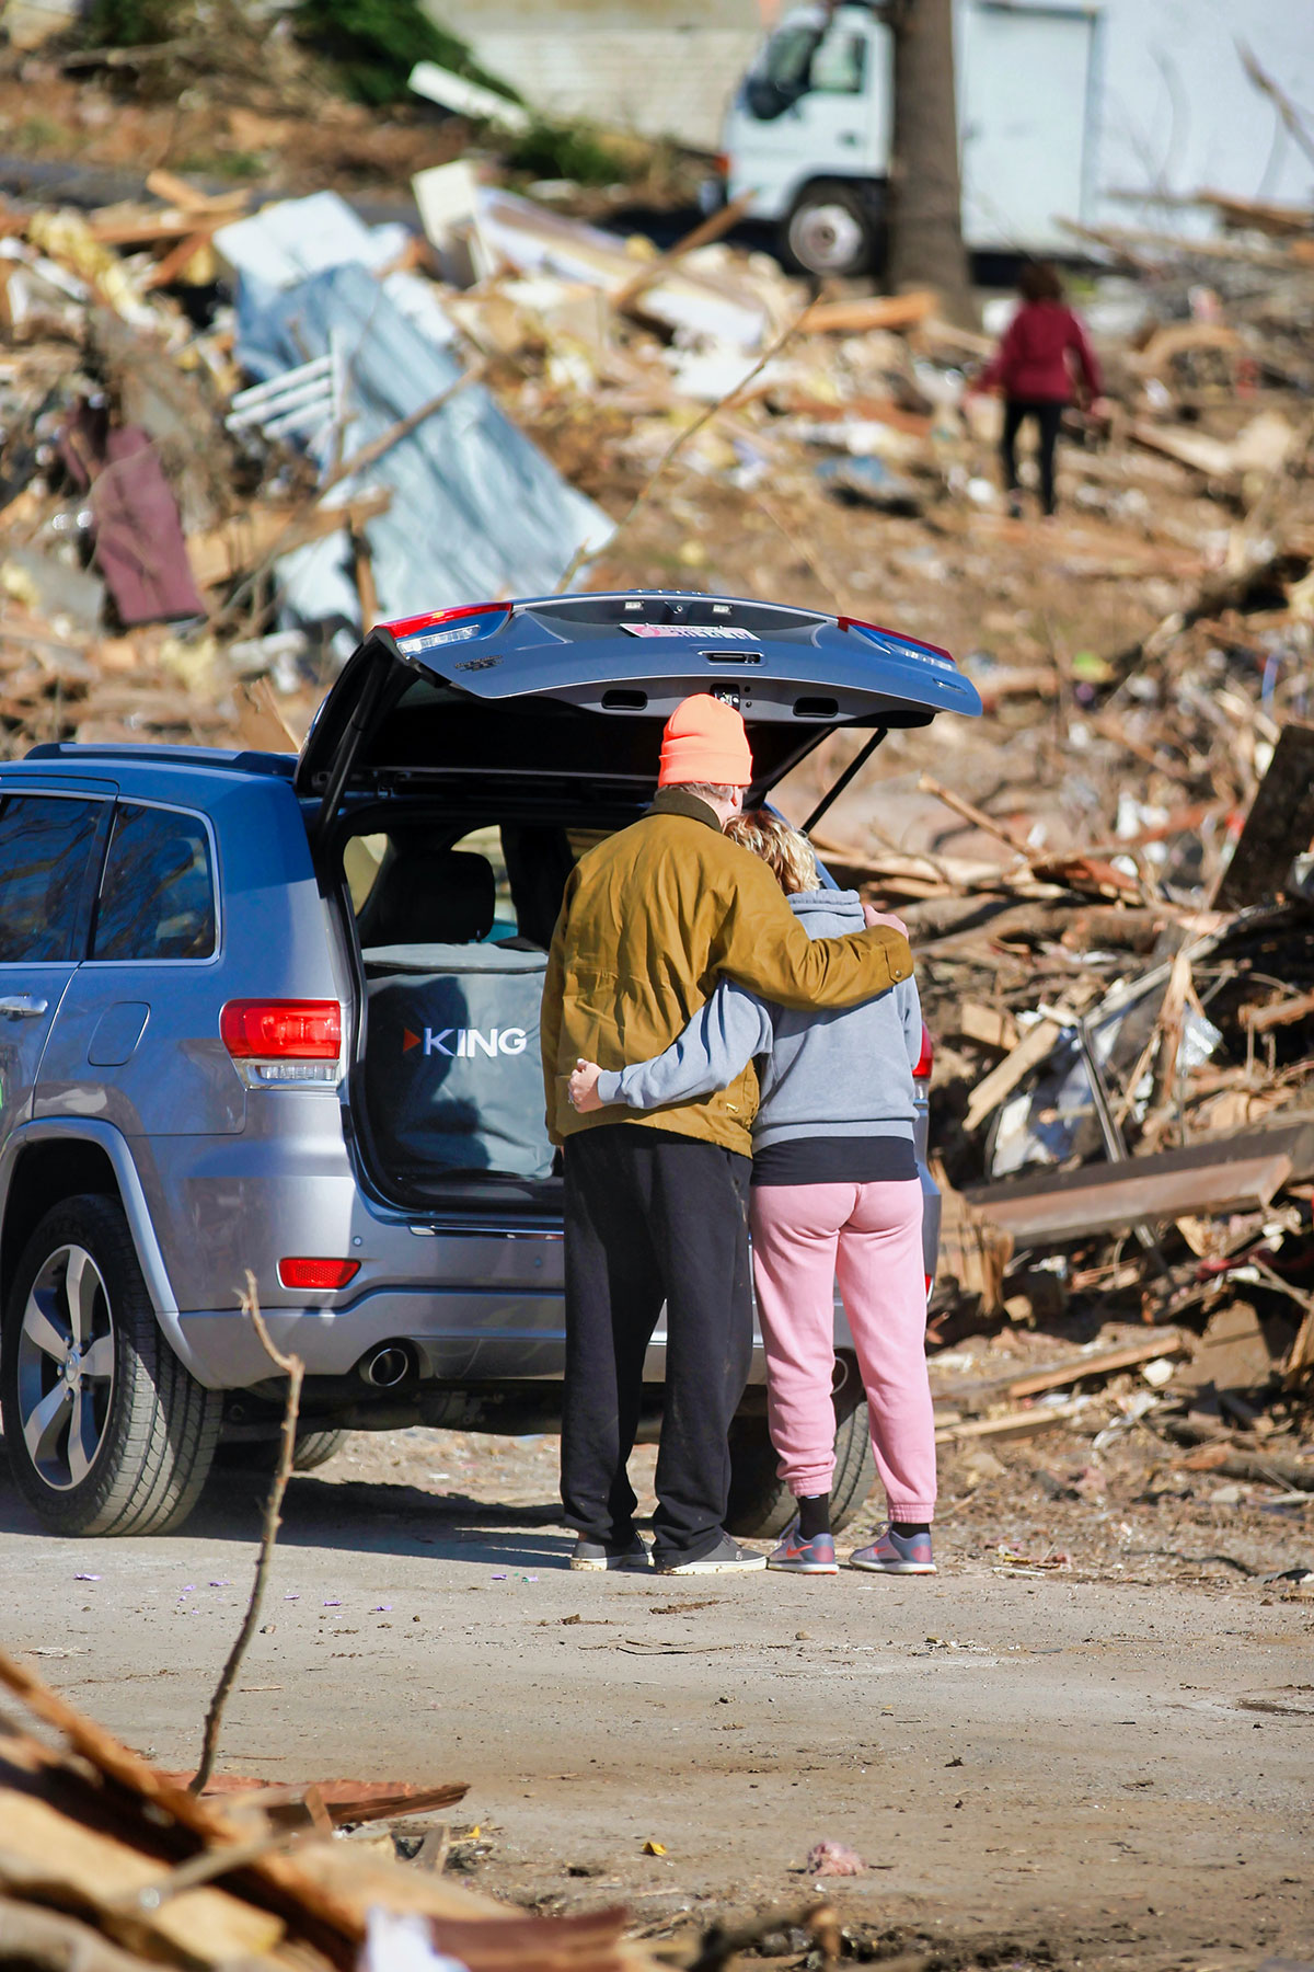
<instances>
[{"instance_id":1,"label":"right leg of the black pants on the orange-beanie man","mask_svg":"<svg viewBox=\"0 0 1314 1972\"><path fill-rule=\"evenodd\" d=\"M729 1426L753 1361L751 1160L672 1136L652 1156L652 1232L666 1276L654 1554L699 1560L721 1538Z\"/></svg>"}]
</instances>

